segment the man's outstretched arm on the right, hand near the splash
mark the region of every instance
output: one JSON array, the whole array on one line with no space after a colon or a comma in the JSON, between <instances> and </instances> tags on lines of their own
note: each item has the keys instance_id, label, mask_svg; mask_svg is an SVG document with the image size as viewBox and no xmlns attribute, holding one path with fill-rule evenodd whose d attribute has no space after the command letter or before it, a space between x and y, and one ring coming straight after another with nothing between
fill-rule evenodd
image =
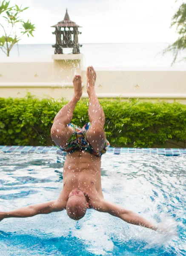
<instances>
[{"instance_id":1,"label":"man's outstretched arm on the right, hand near the splash","mask_svg":"<svg viewBox=\"0 0 186 256\"><path fill-rule=\"evenodd\" d=\"M91 207L99 212L108 212L109 214L118 217L130 224L147 227L152 230L157 230L156 225L152 224L150 221L147 221L139 214L129 211L124 207L113 204L104 199L101 199L100 201L95 201L94 205L91 205Z\"/></svg>"}]
</instances>

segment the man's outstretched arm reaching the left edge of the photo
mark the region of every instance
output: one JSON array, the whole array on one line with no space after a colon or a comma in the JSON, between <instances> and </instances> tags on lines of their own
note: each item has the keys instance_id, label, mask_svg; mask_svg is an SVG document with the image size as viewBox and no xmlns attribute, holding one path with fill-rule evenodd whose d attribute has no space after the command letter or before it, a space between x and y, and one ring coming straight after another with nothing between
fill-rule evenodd
<instances>
[{"instance_id":1,"label":"man's outstretched arm reaching the left edge of the photo","mask_svg":"<svg viewBox=\"0 0 186 256\"><path fill-rule=\"evenodd\" d=\"M10 212L0 212L0 221L4 218L27 218L37 214L48 214L66 209L66 203L62 200L50 201L44 204L35 204Z\"/></svg>"}]
</instances>

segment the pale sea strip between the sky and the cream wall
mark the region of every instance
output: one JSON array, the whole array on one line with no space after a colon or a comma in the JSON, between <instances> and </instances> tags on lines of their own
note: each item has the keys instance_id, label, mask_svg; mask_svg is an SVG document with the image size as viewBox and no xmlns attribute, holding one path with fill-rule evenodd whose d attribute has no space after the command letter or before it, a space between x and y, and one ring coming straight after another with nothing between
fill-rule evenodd
<instances>
[{"instance_id":1,"label":"pale sea strip between the sky and the cream wall","mask_svg":"<svg viewBox=\"0 0 186 256\"><path fill-rule=\"evenodd\" d=\"M54 43L53 43L54 44ZM80 53L83 54L83 66L92 65L100 68L124 67L166 67L170 68L173 61L172 52L163 55L163 50L171 43L81 43ZM63 53L69 54L72 49L64 49ZM10 57L45 58L50 61L54 55L52 44L18 44L10 51ZM0 51L0 59L6 55ZM178 54L177 68L186 68L186 51ZM28 60L29 61L29 60Z\"/></svg>"}]
</instances>

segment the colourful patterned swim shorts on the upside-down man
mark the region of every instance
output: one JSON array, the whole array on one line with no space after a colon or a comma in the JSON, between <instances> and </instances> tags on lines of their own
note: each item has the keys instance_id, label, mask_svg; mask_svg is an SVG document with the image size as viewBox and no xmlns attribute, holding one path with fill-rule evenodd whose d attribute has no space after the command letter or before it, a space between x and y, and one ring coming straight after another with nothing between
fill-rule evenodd
<instances>
[{"instance_id":1,"label":"colourful patterned swim shorts on the upside-down man","mask_svg":"<svg viewBox=\"0 0 186 256\"><path fill-rule=\"evenodd\" d=\"M73 153L75 151L85 151L97 157L101 157L102 154L105 154L110 146L108 140L106 140L104 148L100 152L94 151L90 143L86 140L85 134L89 130L90 125L91 123L88 122L83 126L83 128L80 128L77 125L69 123L68 126L72 126L74 128L74 133L65 145L60 146L60 149L68 153Z\"/></svg>"}]
</instances>

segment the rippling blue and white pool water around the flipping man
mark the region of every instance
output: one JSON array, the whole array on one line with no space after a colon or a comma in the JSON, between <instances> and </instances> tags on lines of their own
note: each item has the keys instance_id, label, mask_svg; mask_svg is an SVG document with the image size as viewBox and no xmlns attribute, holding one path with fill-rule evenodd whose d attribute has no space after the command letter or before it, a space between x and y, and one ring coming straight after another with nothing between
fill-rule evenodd
<instances>
[{"instance_id":1,"label":"rippling blue and white pool water around the flipping man","mask_svg":"<svg viewBox=\"0 0 186 256\"><path fill-rule=\"evenodd\" d=\"M0 211L51 201L63 188L65 157L54 153L0 154ZM106 153L107 200L168 226L168 234L127 224L89 209L73 221L66 212L0 222L1 256L186 255L186 155ZM173 233L177 232L177 236Z\"/></svg>"}]
</instances>

